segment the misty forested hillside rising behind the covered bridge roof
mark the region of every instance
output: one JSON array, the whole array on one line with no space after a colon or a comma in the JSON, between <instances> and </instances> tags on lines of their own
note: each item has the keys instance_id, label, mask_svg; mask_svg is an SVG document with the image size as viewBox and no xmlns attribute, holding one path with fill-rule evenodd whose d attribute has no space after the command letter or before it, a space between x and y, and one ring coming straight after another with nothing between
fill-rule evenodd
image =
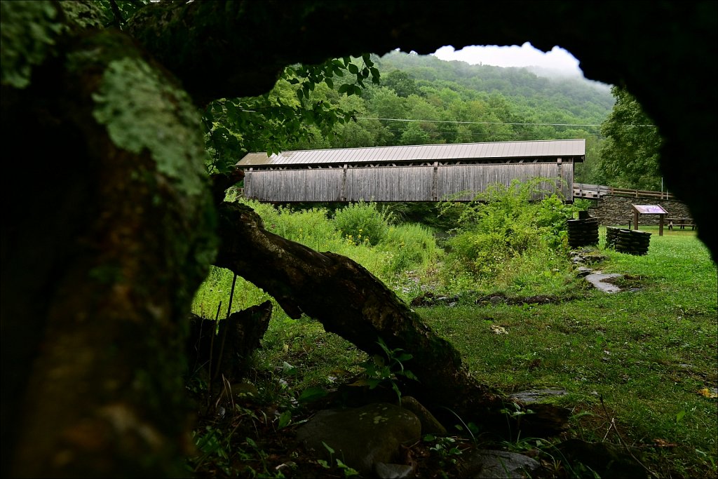
<instances>
[{"instance_id":1,"label":"misty forested hillside rising behind the covered bridge roof","mask_svg":"<svg viewBox=\"0 0 718 479\"><path fill-rule=\"evenodd\" d=\"M372 57L380 83L367 82L353 96L317 85L311 101L354 110L356 121L331 131L310 127L283 149L381 147L584 138L586 164L577 181L600 182L600 124L615 102L610 87L582 78L547 78L526 68L469 65L432 55L390 52ZM279 80L274 93L292 102L292 85ZM382 119L374 119L382 118Z\"/></svg>"}]
</instances>

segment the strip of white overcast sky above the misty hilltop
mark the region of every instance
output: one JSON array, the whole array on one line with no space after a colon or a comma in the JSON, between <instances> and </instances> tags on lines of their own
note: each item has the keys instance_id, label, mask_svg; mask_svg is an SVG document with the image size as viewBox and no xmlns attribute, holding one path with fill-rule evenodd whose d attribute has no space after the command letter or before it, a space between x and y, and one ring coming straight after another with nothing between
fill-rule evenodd
<instances>
[{"instance_id":1,"label":"strip of white overcast sky above the misty hilltop","mask_svg":"<svg viewBox=\"0 0 718 479\"><path fill-rule=\"evenodd\" d=\"M454 47L441 47L434 52L441 60L460 60L471 65L495 65L498 67L531 67L538 66L549 70L557 70L565 75L582 76L579 60L576 60L567 50L554 47L550 52L536 50L531 43L526 42L521 47L499 47L497 45L472 45L462 50Z\"/></svg>"}]
</instances>

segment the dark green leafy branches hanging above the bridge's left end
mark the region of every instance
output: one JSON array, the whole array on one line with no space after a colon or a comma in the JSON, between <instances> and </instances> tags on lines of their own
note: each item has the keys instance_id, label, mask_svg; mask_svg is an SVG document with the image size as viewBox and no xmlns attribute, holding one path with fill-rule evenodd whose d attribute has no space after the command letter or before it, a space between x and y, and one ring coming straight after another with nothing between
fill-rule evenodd
<instances>
[{"instance_id":1,"label":"dark green leafy branches hanging above the bridge's left end","mask_svg":"<svg viewBox=\"0 0 718 479\"><path fill-rule=\"evenodd\" d=\"M337 77L341 80L335 83ZM269 93L211 102L202 116L210 172L230 171L247 152L280 152L292 141L311 139L317 129L332 136L336 124L356 121L357 112L332 105L326 96L314 100L312 93L324 84L340 95L358 96L368 78L379 83L379 70L365 53L319 65L291 65Z\"/></svg>"}]
</instances>

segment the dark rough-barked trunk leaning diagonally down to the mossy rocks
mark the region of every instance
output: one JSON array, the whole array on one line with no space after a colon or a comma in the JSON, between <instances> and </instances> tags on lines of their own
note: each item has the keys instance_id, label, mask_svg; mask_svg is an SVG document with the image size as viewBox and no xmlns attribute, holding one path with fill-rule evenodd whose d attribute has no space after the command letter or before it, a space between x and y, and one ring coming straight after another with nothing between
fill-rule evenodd
<instances>
[{"instance_id":1,"label":"dark rough-barked trunk leaning diagonally down to the mossy rocks","mask_svg":"<svg viewBox=\"0 0 718 479\"><path fill-rule=\"evenodd\" d=\"M363 266L266 231L246 205L223 203L219 216L221 248L215 265L273 295L290 317L314 317L325 330L367 353L382 353L381 338L388 348L413 354L404 366L419 383L403 386L426 406L449 407L462 418L481 417L488 427L505 424L498 415L503 408L498 391L477 383L458 351Z\"/></svg>"}]
</instances>

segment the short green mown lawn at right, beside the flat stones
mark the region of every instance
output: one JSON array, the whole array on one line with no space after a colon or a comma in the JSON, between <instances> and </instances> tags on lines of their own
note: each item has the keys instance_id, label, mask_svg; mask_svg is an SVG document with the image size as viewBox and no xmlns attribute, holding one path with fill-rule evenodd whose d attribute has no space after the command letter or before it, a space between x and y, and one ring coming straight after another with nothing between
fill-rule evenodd
<instances>
[{"instance_id":1,"label":"short green mown lawn at right, beside the flat stones","mask_svg":"<svg viewBox=\"0 0 718 479\"><path fill-rule=\"evenodd\" d=\"M623 292L420 313L480 381L508 393L565 389L558 401L572 409L578 437L615 443L623 437L661 477L715 477L716 266L694 231L658 236L657 227L642 229L653 233L647 255L606 250L607 259L592 266L624 274Z\"/></svg>"}]
</instances>

